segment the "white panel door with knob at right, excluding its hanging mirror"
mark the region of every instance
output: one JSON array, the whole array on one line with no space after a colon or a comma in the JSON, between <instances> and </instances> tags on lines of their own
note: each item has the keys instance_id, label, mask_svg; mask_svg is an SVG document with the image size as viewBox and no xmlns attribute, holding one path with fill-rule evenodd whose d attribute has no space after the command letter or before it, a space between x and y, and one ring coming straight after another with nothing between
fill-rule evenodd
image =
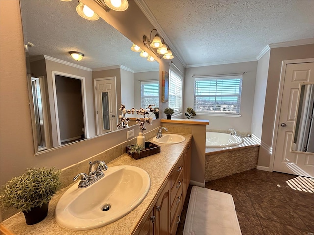
<instances>
[{"instance_id":1,"label":"white panel door with knob at right, excluding its hanging mirror","mask_svg":"<svg viewBox=\"0 0 314 235\"><path fill-rule=\"evenodd\" d=\"M314 63L287 64L279 116L274 171L314 177L314 154L292 151L301 84L314 82Z\"/></svg>"}]
</instances>

